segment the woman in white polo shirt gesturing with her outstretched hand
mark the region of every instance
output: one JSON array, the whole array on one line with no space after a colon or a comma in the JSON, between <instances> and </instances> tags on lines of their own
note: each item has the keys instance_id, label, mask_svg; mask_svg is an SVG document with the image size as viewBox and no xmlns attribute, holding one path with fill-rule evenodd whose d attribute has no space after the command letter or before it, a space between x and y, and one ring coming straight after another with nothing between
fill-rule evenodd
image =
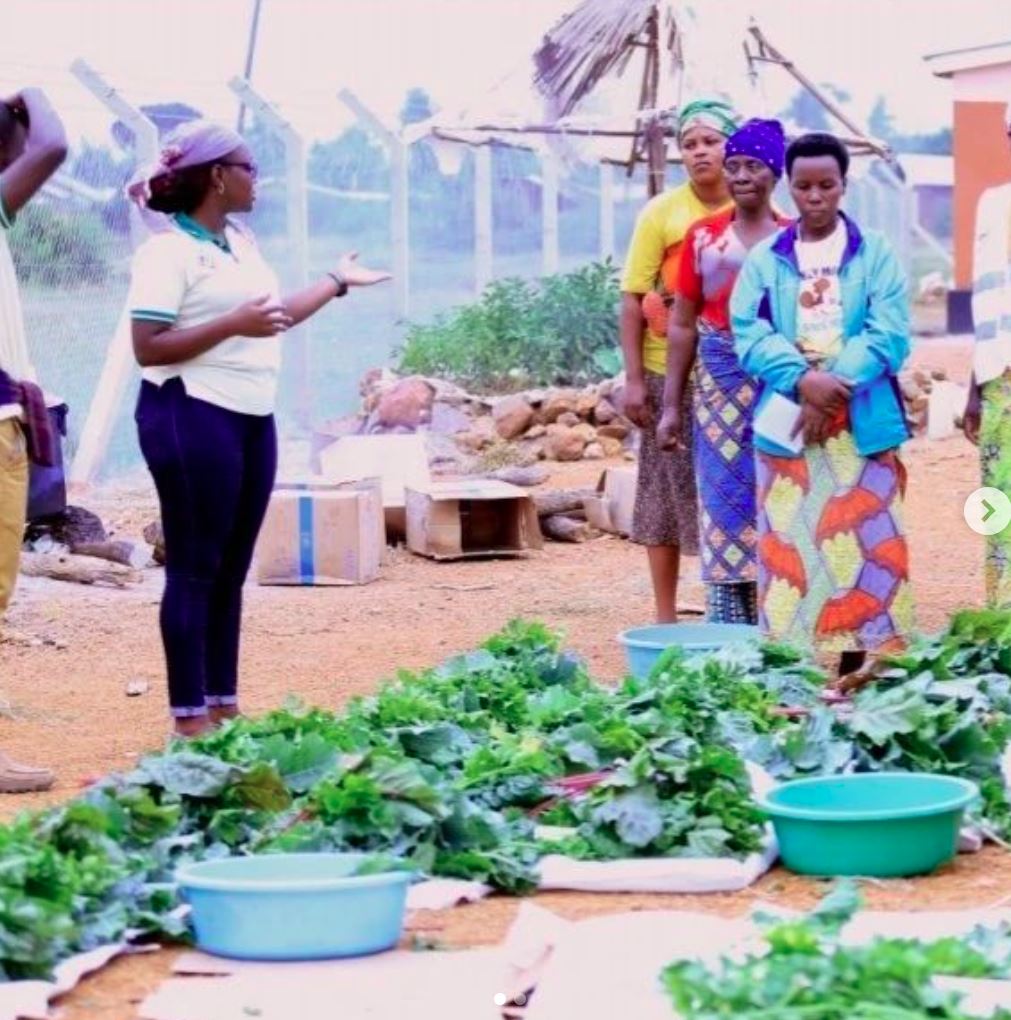
<instances>
[{"instance_id":1,"label":"woman in white polo shirt gesturing with her outstretched hand","mask_svg":"<svg viewBox=\"0 0 1011 1020\"><path fill-rule=\"evenodd\" d=\"M206 121L178 131L131 196L155 232L134 256L137 425L165 534L161 633L175 731L238 712L242 585L277 461L281 337L350 287L388 273L341 259L282 298L248 228L255 200L242 137Z\"/></svg>"}]
</instances>

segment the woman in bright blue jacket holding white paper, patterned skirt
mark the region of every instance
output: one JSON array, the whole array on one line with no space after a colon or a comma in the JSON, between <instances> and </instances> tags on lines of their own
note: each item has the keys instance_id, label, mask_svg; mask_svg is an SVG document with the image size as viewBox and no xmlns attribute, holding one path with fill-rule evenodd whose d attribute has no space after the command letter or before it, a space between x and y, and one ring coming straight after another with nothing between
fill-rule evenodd
<instances>
[{"instance_id":1,"label":"woman in bright blue jacket holding white paper, patterned skirt","mask_svg":"<svg viewBox=\"0 0 1011 1020\"><path fill-rule=\"evenodd\" d=\"M888 242L840 211L848 169L831 135L790 146L800 218L752 249L730 301L738 356L762 390L760 624L841 654L842 673L900 649L914 620L896 384L909 353L906 282Z\"/></svg>"}]
</instances>

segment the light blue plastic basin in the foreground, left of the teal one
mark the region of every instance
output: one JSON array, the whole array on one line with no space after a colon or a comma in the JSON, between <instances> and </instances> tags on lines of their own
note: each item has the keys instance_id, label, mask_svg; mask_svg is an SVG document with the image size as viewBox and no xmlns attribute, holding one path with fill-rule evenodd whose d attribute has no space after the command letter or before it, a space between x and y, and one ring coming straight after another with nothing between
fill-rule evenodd
<instances>
[{"instance_id":1,"label":"light blue plastic basin in the foreground, left of the teal one","mask_svg":"<svg viewBox=\"0 0 1011 1020\"><path fill-rule=\"evenodd\" d=\"M268 854L180 868L197 945L242 960L324 960L395 946L411 874L353 874L361 854Z\"/></svg>"}]
</instances>

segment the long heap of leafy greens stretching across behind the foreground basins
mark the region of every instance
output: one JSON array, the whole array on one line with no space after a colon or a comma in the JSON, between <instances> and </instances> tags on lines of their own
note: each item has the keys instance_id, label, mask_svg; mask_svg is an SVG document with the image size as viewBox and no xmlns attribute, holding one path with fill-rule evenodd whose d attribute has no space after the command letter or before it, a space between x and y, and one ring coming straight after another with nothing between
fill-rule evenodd
<instances>
[{"instance_id":1,"label":"long heap of leafy greens stretching across behind the foreground basins","mask_svg":"<svg viewBox=\"0 0 1011 1020\"><path fill-rule=\"evenodd\" d=\"M236 720L0 826L0 977L44 976L127 932L183 935L176 867L231 854L360 851L511 894L536 886L546 854L744 858L764 834L746 761L777 777L965 775L1008 833L1008 616L955 617L842 710L820 700L824 679L766 646L674 650L605 687L517 621L341 713Z\"/></svg>"}]
</instances>

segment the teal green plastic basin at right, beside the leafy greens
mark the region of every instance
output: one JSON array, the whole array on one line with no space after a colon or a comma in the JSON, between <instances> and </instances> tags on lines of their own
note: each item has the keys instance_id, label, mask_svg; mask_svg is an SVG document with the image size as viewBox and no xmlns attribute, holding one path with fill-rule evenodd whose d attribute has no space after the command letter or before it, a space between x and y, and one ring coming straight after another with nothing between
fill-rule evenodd
<instances>
[{"instance_id":1,"label":"teal green plastic basin at right, beside the leafy greens","mask_svg":"<svg viewBox=\"0 0 1011 1020\"><path fill-rule=\"evenodd\" d=\"M791 871L895 878L951 861L962 816L978 796L967 779L867 772L785 782L758 804Z\"/></svg>"}]
</instances>

